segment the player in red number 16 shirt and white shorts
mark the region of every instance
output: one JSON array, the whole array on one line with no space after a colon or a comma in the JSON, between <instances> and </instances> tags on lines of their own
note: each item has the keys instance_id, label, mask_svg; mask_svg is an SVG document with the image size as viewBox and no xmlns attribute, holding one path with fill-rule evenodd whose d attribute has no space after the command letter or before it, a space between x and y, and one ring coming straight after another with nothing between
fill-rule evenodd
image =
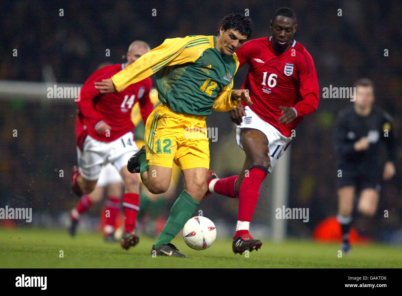
<instances>
[{"instance_id":1,"label":"player in red number 16 shirt and white shorts","mask_svg":"<svg viewBox=\"0 0 402 296\"><path fill-rule=\"evenodd\" d=\"M261 183L289 146L292 131L316 110L319 100L312 57L293 39L297 27L293 10L279 8L270 27L271 37L250 40L236 52L240 67L250 65L242 89L250 91L253 102L229 111L237 124L236 141L246 153L242 171L223 179L209 171L210 192L239 198L235 254L262 245L248 231Z\"/></svg>"}]
</instances>

